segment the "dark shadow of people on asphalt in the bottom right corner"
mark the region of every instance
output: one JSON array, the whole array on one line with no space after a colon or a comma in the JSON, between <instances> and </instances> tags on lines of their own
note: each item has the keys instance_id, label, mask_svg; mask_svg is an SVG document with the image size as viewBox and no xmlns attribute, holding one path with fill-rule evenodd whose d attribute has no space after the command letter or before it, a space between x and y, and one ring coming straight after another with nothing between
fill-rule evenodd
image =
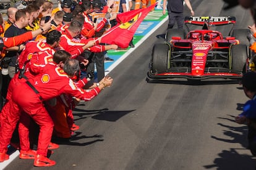
<instances>
[{"instance_id":1,"label":"dark shadow of people on asphalt in the bottom right corner","mask_svg":"<svg viewBox=\"0 0 256 170\"><path fill-rule=\"evenodd\" d=\"M233 115L228 115L231 118L219 118L226 119L228 121L234 121ZM252 155L241 154L239 150L247 150L247 126L228 126L226 124L218 123L218 125L225 127L226 130L223 134L227 138L219 138L216 136L211 136L212 139L216 139L222 142L228 142L233 144L241 144L241 148L230 148L229 150L223 150L218 153L218 158L215 158L213 164L208 164L203 166L206 169L255 169L256 162Z\"/></svg>"}]
</instances>

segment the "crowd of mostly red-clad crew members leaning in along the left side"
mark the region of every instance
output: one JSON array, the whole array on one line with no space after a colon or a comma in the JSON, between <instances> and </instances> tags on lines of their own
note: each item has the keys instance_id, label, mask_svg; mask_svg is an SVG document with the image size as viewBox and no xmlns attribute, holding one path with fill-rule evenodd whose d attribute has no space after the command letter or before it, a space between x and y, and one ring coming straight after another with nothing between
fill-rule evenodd
<instances>
[{"instance_id":1,"label":"crowd of mostly red-clad crew members leaning in along the left side","mask_svg":"<svg viewBox=\"0 0 256 170\"><path fill-rule=\"evenodd\" d=\"M51 142L52 136L69 139L79 129L72 114L75 105L93 99L113 83L113 78L104 75L104 59L98 61L95 78L94 65L99 59L91 58L104 58L106 51L118 48L101 44L100 38L116 18L116 13L111 14L113 3L64 0L53 9L51 1L14 1L7 9L7 20L0 17L4 42L0 163L9 159L11 144L19 148L20 159L33 159L34 166L56 164L47 157L59 147ZM81 77L81 71L86 76ZM18 143L11 140L15 130Z\"/></svg>"}]
</instances>

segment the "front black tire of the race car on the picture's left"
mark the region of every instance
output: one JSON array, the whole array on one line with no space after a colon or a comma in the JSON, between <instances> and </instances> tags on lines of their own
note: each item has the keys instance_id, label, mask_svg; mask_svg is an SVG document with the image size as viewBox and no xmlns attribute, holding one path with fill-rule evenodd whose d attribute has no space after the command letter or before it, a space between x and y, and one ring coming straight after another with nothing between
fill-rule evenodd
<instances>
[{"instance_id":1,"label":"front black tire of the race car on the picture's left","mask_svg":"<svg viewBox=\"0 0 256 170\"><path fill-rule=\"evenodd\" d=\"M155 44L151 54L151 73L160 73L168 69L169 44Z\"/></svg>"}]
</instances>

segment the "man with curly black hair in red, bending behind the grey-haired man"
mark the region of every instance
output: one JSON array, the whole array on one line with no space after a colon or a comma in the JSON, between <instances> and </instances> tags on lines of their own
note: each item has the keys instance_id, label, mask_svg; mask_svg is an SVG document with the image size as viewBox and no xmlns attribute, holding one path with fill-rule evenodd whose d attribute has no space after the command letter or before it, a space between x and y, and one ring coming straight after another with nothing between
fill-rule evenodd
<instances>
[{"instance_id":1,"label":"man with curly black hair in red, bending behind the grey-haired man","mask_svg":"<svg viewBox=\"0 0 256 170\"><path fill-rule=\"evenodd\" d=\"M43 56L38 57L38 60L39 60L38 63L46 64L48 62L52 62L53 61L52 56L55 52L54 48L59 46L60 37L61 37L61 33L59 33L59 31L53 30L47 34L46 42L36 42L36 41L28 42L24 51L22 52L22 54L20 54L20 62L19 62L20 68L23 67L24 63L27 62L35 52L41 52L44 55L46 55L44 57ZM25 69L26 68L23 68L24 71ZM11 99L12 92L16 88L17 84L19 84L20 82L26 81L28 78L33 78L34 76L32 73L30 73L30 71L25 72L24 73L25 76L20 77L20 75L23 75L23 74L20 74L20 73L15 74L14 78L11 80L9 84L7 97L6 97L6 104L5 104L5 107L2 108L1 116L6 116L4 114L6 114L9 111L11 107L11 103L8 101ZM27 118L26 114L22 114L21 119L25 121L26 119L28 119L27 121L28 123L30 120L29 117ZM20 147L21 147L20 158L32 159L33 156L35 156L35 152L33 150L28 150L27 145L25 145L27 143L24 141L26 141L26 137L28 137L28 131L25 131L25 128L22 128L22 124L19 124L19 134L20 134Z\"/></svg>"}]
</instances>

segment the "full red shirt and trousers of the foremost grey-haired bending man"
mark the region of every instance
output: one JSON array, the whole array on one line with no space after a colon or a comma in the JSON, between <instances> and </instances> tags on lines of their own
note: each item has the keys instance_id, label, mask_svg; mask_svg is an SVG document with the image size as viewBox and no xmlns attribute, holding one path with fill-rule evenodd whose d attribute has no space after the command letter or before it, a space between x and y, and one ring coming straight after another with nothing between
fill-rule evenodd
<instances>
[{"instance_id":1,"label":"full red shirt and trousers of the foremost grey-haired bending man","mask_svg":"<svg viewBox=\"0 0 256 170\"><path fill-rule=\"evenodd\" d=\"M98 87L91 91L79 89L62 68L56 67L55 63L48 63L45 66L33 64L31 70L34 73L39 73L28 80L38 93L27 83L19 83L19 86L14 89L12 99L9 101L11 103L9 114L1 113L0 116L2 123L0 128L0 152L6 151L19 120L20 111L23 110L40 126L37 153L46 156L53 132L53 120L46 111L43 101L53 99L61 94L70 94L88 101L100 92Z\"/></svg>"}]
</instances>

